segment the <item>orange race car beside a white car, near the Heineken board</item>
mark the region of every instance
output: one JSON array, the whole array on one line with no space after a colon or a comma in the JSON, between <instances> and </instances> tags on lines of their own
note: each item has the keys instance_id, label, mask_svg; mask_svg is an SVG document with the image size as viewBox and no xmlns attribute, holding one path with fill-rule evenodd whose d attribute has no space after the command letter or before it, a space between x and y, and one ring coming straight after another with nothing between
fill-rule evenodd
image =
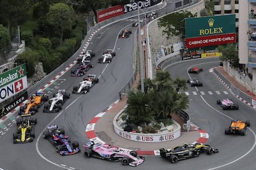
<instances>
[{"instance_id":1,"label":"orange race car beside a white car, near the Heineken board","mask_svg":"<svg viewBox=\"0 0 256 170\"><path fill-rule=\"evenodd\" d=\"M36 92L30 98L24 106L20 107L19 115L31 114L35 115L38 111L38 108L43 105L48 100L48 95L44 92Z\"/></svg>"}]
</instances>

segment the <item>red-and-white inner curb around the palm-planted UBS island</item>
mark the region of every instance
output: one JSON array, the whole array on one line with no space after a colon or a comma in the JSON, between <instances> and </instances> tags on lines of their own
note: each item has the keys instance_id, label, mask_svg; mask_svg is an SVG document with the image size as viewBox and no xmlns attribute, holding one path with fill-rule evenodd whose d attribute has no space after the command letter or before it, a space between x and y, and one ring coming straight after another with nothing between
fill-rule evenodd
<instances>
[{"instance_id":1,"label":"red-and-white inner curb around the palm-planted UBS island","mask_svg":"<svg viewBox=\"0 0 256 170\"><path fill-rule=\"evenodd\" d=\"M104 142L103 140L101 140L99 137L97 137L95 131L94 131L94 127L95 124L97 123L98 119L100 119L101 117L103 117L105 115L105 113L112 108L117 102L119 102L119 100L117 100L116 102L114 102L108 109L106 109L106 111L98 113L98 115L96 115L90 122L89 124L87 124L86 128L85 128L85 134L88 137L89 140L95 142L95 144L106 144L106 142ZM191 124L191 126L194 126L195 129L197 129L197 131L200 134L199 139L197 139L197 141L193 142L193 144L195 143L201 143L201 144L205 144L205 142L207 142L209 136L207 134L207 131L204 131L202 129L198 129L197 126L195 126L194 124ZM114 147L114 146L113 146ZM127 148L121 148L122 150L125 150L127 152L130 152L130 149ZM137 153L139 155L160 155L160 151L159 150L137 150Z\"/></svg>"}]
</instances>

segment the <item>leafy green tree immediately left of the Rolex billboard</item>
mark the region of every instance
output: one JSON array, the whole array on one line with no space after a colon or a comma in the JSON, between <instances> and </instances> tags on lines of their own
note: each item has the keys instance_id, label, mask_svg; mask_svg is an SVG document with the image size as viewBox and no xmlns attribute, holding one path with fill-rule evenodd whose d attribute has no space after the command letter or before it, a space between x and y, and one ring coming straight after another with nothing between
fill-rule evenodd
<instances>
[{"instance_id":1,"label":"leafy green tree immediately left of the Rolex billboard","mask_svg":"<svg viewBox=\"0 0 256 170\"><path fill-rule=\"evenodd\" d=\"M165 15L158 20L158 27L164 27L163 35L166 38L171 36L178 36L185 34L185 18L196 17L197 14L193 15L187 10L181 10L180 12L174 12L169 15Z\"/></svg>"}]
</instances>

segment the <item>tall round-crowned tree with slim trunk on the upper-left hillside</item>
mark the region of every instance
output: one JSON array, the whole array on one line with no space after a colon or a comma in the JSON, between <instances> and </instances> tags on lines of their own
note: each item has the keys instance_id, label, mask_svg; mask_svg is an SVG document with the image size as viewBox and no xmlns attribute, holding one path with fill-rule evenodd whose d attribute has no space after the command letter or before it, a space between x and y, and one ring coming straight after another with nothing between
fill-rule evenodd
<instances>
[{"instance_id":1,"label":"tall round-crowned tree with slim trunk on the upper-left hillside","mask_svg":"<svg viewBox=\"0 0 256 170\"><path fill-rule=\"evenodd\" d=\"M64 3L53 4L49 7L49 12L47 14L48 22L51 25L56 26L56 30L60 33L60 46L62 45L62 38L64 29L71 28L75 20L74 9L67 6Z\"/></svg>"}]
</instances>

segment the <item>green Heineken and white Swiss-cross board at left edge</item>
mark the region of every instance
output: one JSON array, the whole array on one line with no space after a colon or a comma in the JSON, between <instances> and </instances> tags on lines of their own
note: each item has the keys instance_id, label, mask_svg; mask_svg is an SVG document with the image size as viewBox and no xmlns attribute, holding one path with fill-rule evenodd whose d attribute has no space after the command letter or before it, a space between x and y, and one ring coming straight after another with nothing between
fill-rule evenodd
<instances>
[{"instance_id":1,"label":"green Heineken and white Swiss-cross board at left edge","mask_svg":"<svg viewBox=\"0 0 256 170\"><path fill-rule=\"evenodd\" d=\"M25 64L12 68L0 75L0 102L27 89L27 72Z\"/></svg>"}]
</instances>

